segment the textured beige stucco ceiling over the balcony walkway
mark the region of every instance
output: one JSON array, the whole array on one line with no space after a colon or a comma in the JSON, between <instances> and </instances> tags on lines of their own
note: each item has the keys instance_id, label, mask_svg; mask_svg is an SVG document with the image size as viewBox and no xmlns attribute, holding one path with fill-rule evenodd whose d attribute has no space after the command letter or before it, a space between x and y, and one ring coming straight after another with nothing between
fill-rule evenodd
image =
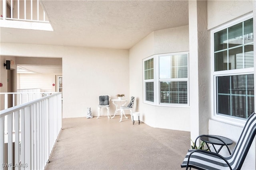
<instances>
[{"instance_id":1,"label":"textured beige stucco ceiling over the balcony walkway","mask_svg":"<svg viewBox=\"0 0 256 170\"><path fill-rule=\"evenodd\" d=\"M152 31L188 25L187 0L40 2L54 31L1 27L1 42L130 49Z\"/></svg>"}]
</instances>

